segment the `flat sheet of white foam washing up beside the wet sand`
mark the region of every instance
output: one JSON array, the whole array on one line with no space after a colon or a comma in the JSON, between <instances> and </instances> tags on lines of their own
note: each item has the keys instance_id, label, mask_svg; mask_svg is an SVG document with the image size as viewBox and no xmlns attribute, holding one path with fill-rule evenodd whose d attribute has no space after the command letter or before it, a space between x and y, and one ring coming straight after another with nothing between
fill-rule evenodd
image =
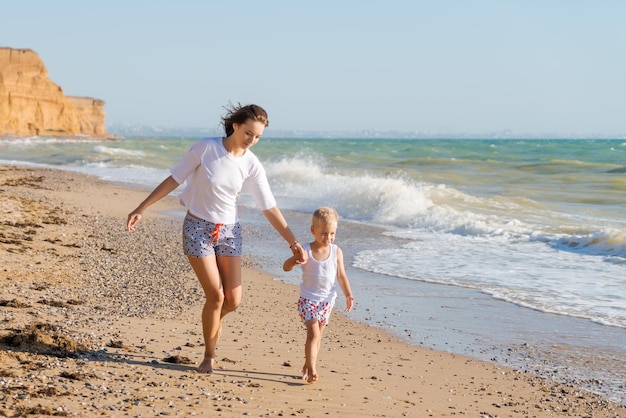
<instances>
[{"instance_id":1,"label":"flat sheet of white foam washing up beside the wet sand","mask_svg":"<svg viewBox=\"0 0 626 418\"><path fill-rule=\"evenodd\" d=\"M402 236L408 239L409 234ZM626 328L624 295L616 294L626 286L623 266L551 249L541 242L414 231L401 247L361 251L354 266L478 289L542 312Z\"/></svg>"}]
</instances>

